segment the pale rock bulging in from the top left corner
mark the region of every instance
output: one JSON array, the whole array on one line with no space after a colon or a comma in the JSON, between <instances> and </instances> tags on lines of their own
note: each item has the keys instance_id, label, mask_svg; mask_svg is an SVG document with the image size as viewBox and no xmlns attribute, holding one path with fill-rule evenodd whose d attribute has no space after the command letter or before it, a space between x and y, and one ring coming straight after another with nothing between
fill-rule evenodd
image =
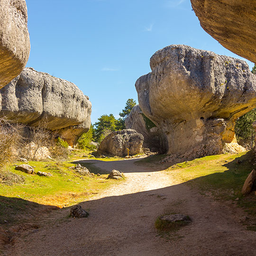
<instances>
[{"instance_id":1,"label":"pale rock bulging in from the top left corner","mask_svg":"<svg viewBox=\"0 0 256 256\"><path fill-rule=\"evenodd\" d=\"M0 88L24 69L30 52L25 0L0 0Z\"/></svg>"}]
</instances>

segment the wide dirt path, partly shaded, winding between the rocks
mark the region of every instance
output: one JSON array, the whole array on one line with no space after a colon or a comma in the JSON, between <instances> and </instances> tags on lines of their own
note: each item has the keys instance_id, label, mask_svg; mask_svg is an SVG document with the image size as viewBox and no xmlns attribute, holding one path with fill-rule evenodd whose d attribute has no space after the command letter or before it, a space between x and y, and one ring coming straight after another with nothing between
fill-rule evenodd
<instances>
[{"instance_id":1,"label":"wide dirt path, partly shaded, winding between the rocks","mask_svg":"<svg viewBox=\"0 0 256 256\"><path fill-rule=\"evenodd\" d=\"M8 256L256 256L256 232L247 231L242 212L175 184L165 171L134 165L136 160L96 166L125 173L126 181L81 203L86 219L58 221L19 238ZM155 219L165 213L187 214L192 223L169 239L157 236Z\"/></svg>"}]
</instances>

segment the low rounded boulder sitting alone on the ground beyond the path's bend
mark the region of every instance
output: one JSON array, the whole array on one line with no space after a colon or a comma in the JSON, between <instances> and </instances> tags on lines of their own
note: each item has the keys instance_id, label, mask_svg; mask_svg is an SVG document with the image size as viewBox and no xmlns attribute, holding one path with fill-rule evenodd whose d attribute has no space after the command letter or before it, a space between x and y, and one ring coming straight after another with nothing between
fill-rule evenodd
<instances>
[{"instance_id":1,"label":"low rounded boulder sitting alone on the ground beyond the path's bend","mask_svg":"<svg viewBox=\"0 0 256 256\"><path fill-rule=\"evenodd\" d=\"M129 149L129 155L137 155L141 151L143 139L141 134L132 129L114 131L101 141L97 152L126 156Z\"/></svg>"}]
</instances>

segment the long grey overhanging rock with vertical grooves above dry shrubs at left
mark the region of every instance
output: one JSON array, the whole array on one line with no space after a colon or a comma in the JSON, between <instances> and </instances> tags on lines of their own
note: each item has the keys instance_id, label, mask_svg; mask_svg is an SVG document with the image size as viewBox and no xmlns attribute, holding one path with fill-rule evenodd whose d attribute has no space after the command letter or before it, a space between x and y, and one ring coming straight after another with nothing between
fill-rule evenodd
<instances>
[{"instance_id":1,"label":"long grey overhanging rock with vertical grooves above dry shrubs at left","mask_svg":"<svg viewBox=\"0 0 256 256\"><path fill-rule=\"evenodd\" d=\"M91 126L91 102L72 82L25 68L0 89L0 115L28 126L46 124L73 146Z\"/></svg>"}]
</instances>

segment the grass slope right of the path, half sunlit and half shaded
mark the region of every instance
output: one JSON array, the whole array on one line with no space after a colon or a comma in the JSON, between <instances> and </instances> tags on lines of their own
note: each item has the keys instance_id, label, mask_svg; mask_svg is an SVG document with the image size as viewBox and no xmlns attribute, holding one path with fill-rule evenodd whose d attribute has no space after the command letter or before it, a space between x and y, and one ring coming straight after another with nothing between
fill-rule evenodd
<instances>
[{"instance_id":1,"label":"grass slope right of the path, half sunlit and half shaded","mask_svg":"<svg viewBox=\"0 0 256 256\"><path fill-rule=\"evenodd\" d=\"M243 184L252 171L253 152L211 155L169 167L166 171L179 183L186 182L219 200L239 199L238 206L256 216L256 196L242 196ZM241 161L238 164L238 160Z\"/></svg>"}]
</instances>

